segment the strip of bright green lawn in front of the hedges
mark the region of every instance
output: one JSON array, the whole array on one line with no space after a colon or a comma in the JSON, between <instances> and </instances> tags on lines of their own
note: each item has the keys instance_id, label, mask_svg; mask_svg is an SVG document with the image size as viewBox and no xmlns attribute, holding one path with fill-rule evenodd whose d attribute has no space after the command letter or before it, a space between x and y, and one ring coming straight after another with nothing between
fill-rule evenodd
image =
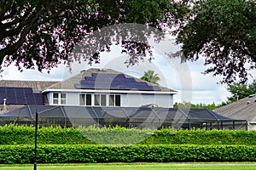
<instances>
[{"instance_id":1,"label":"strip of bright green lawn in front of the hedges","mask_svg":"<svg viewBox=\"0 0 256 170\"><path fill-rule=\"evenodd\" d=\"M32 170L33 165L1 165L0 169ZM167 170L167 169L211 169L241 170L256 169L256 163L133 163L133 164L89 164L89 165L38 165L38 170Z\"/></svg>"}]
</instances>

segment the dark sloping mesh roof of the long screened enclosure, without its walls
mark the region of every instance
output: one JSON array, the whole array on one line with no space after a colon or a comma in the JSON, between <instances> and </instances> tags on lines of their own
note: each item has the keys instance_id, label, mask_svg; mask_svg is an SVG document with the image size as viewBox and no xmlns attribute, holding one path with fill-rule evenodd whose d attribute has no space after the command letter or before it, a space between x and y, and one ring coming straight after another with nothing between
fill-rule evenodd
<instances>
[{"instance_id":1,"label":"dark sloping mesh roof of the long screened enclosure, without its walls","mask_svg":"<svg viewBox=\"0 0 256 170\"><path fill-rule=\"evenodd\" d=\"M161 107L99 107L99 106L64 106L64 105L26 105L15 111L9 111L2 116L34 116L38 111L40 116L55 117L55 111L62 112L58 117L130 117L148 118L154 117L165 121L172 120L196 120L200 122L231 121L235 120L227 116L221 116L215 111L207 109L176 109ZM25 113L27 112L27 113ZM88 115L89 114L89 115Z\"/></svg>"}]
</instances>

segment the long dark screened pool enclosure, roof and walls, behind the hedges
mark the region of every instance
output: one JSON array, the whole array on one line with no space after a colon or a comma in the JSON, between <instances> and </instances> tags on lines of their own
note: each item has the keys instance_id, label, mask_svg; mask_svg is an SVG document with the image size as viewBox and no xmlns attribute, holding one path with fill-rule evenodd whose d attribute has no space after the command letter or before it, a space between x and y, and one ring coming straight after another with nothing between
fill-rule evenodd
<instances>
[{"instance_id":1,"label":"long dark screened pool enclosure, roof and walls, behind the hedges","mask_svg":"<svg viewBox=\"0 0 256 170\"><path fill-rule=\"evenodd\" d=\"M38 112L41 126L121 126L138 128L246 128L245 120L221 116L207 109L159 107L98 107L63 105L26 105L0 115L0 124L31 124ZM236 123L235 123L236 122ZM235 125L236 124L236 125ZM235 127L236 126L236 127Z\"/></svg>"}]
</instances>

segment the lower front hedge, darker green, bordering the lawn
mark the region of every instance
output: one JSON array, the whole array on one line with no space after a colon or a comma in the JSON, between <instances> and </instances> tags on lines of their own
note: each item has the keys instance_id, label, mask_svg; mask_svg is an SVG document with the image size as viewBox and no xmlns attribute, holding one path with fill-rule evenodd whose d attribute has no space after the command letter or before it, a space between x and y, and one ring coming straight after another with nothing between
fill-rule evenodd
<instances>
[{"instance_id":1,"label":"lower front hedge, darker green, bordering the lawn","mask_svg":"<svg viewBox=\"0 0 256 170\"><path fill-rule=\"evenodd\" d=\"M1 145L1 164L33 162L32 145ZM256 146L193 144L38 145L38 163L256 161Z\"/></svg>"}]
</instances>

